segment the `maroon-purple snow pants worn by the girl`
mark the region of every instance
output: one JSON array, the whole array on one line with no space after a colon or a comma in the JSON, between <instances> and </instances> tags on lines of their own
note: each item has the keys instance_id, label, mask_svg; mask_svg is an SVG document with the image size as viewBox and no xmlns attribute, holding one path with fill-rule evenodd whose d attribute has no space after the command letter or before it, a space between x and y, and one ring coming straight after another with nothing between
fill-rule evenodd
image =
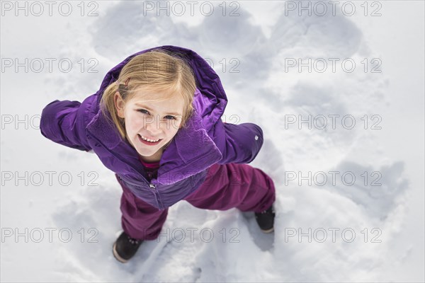
<instances>
[{"instance_id":1,"label":"maroon-purple snow pants worn by the girl","mask_svg":"<svg viewBox=\"0 0 425 283\"><path fill-rule=\"evenodd\" d=\"M123 187L121 226L132 238L153 240L159 236L168 209L157 209ZM248 164L214 164L198 190L184 198L194 207L242 212L262 212L276 200L273 180Z\"/></svg>"}]
</instances>

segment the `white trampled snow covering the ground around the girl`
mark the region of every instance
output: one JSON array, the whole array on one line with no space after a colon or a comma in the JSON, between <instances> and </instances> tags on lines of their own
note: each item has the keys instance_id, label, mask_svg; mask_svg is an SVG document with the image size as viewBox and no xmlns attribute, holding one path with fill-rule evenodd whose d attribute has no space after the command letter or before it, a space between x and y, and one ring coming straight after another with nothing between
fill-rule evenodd
<instances>
[{"instance_id":1,"label":"white trampled snow covering the ground around the girl","mask_svg":"<svg viewBox=\"0 0 425 283\"><path fill-rule=\"evenodd\" d=\"M45 2L41 16L26 1L28 16L9 11L16 3L1 2L1 282L425 281L423 1L352 1L353 16L345 1L324 16L288 6L308 1L233 1L225 11L208 2L210 16L203 2L193 16L185 1L183 16L172 2L170 16L147 9L156 1L85 2L84 16L74 1L69 16L62 2L52 16ZM93 8L98 16L86 16ZM382 16L370 16L377 8ZM160 45L212 62L229 98L223 119L262 127L251 166L275 181L276 229L182 201L123 265L111 251L121 231L115 176L96 155L42 137L39 115L52 100L83 100L115 64ZM33 65L16 71L15 58ZM309 58L311 72L288 65ZM329 115L339 115L334 128ZM309 117L311 129L300 123Z\"/></svg>"}]
</instances>

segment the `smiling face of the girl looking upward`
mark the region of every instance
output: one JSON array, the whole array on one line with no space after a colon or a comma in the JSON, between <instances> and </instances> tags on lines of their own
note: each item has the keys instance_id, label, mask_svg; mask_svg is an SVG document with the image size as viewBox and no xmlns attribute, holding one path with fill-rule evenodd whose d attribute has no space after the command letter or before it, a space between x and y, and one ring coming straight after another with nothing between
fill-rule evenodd
<instances>
[{"instance_id":1,"label":"smiling face of the girl looking upward","mask_svg":"<svg viewBox=\"0 0 425 283\"><path fill-rule=\"evenodd\" d=\"M125 120L125 132L130 144L147 162L159 161L162 147L179 131L184 100L172 96L168 100L146 101L144 98L162 98L163 93L139 91L125 102L120 93L115 93L118 116Z\"/></svg>"}]
</instances>

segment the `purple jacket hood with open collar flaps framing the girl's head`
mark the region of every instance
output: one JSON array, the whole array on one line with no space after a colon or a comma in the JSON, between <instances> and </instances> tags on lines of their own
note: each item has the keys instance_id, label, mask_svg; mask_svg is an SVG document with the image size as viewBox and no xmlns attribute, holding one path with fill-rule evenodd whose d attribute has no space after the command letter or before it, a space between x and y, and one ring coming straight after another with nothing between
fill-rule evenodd
<instances>
[{"instance_id":1,"label":"purple jacket hood with open collar flaps framing the girl's head","mask_svg":"<svg viewBox=\"0 0 425 283\"><path fill-rule=\"evenodd\" d=\"M97 103L94 103L96 112L93 120L89 122L87 130L98 143L103 144L110 153L119 152L119 159L131 166L137 173L142 173L143 168L138 159L137 151L123 141L120 134L115 129L115 125L104 117L100 110L99 103L103 91L113 82L117 81L121 69L132 57L152 50L165 50L172 56L181 57L192 68L195 75L197 90L193 98L193 115L188 119L186 127L179 129L171 144L166 147L160 161L160 168L157 175L157 183L170 185L185 178L191 177L205 171L212 164L217 163L222 158L220 150L209 136L213 132L215 122L219 120L227 105L227 96L222 87L219 76L210 65L196 52L182 47L165 45L154 47L130 55L123 62L108 71L101 83L97 94ZM96 151L96 149L94 149ZM99 156L102 152L96 152ZM128 168L116 166L103 162L115 173L128 175ZM123 168L122 172L117 172L116 168Z\"/></svg>"}]
</instances>

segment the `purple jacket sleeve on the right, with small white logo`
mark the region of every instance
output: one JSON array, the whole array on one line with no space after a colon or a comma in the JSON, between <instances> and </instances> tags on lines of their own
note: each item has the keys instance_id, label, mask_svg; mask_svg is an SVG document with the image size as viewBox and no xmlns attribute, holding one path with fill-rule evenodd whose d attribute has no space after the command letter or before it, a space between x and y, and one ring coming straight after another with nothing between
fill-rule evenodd
<instances>
[{"instance_id":1,"label":"purple jacket sleeve on the right, with small white logo","mask_svg":"<svg viewBox=\"0 0 425 283\"><path fill-rule=\"evenodd\" d=\"M234 125L219 119L215 124L215 144L222 153L219 164L250 163L263 146L263 130L253 123Z\"/></svg>"}]
</instances>

